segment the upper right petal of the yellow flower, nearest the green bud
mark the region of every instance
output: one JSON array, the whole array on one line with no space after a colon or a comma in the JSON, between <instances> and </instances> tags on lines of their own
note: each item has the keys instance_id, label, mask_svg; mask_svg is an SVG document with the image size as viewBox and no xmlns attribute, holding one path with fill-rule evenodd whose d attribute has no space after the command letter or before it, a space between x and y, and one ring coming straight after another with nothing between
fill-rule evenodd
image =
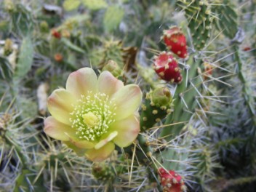
<instances>
[{"instance_id":1,"label":"upper right petal of the yellow flower, nearest the green bud","mask_svg":"<svg viewBox=\"0 0 256 192\"><path fill-rule=\"evenodd\" d=\"M119 89L111 98L116 103L116 120L121 120L137 111L142 100L142 92L137 85L129 84Z\"/></svg>"}]
</instances>

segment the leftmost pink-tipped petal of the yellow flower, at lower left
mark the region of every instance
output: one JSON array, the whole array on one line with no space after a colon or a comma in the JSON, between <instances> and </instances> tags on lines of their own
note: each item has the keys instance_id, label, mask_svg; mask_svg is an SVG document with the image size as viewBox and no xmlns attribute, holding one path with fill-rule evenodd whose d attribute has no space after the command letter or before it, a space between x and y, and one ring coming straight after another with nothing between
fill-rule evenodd
<instances>
[{"instance_id":1,"label":"leftmost pink-tipped petal of the yellow flower, at lower left","mask_svg":"<svg viewBox=\"0 0 256 192\"><path fill-rule=\"evenodd\" d=\"M75 135L74 129L72 129L69 125L63 124L60 121L57 121L54 117L48 116L47 119L44 120L44 132L52 138L56 140L69 140L67 135Z\"/></svg>"}]
</instances>

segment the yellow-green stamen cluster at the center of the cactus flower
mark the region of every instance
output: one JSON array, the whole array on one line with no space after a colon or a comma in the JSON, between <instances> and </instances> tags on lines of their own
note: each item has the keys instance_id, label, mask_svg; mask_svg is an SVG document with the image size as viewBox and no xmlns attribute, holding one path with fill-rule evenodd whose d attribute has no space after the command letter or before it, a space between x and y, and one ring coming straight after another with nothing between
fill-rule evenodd
<instances>
[{"instance_id":1,"label":"yellow-green stamen cluster at the center of the cactus flower","mask_svg":"<svg viewBox=\"0 0 256 192\"><path fill-rule=\"evenodd\" d=\"M108 95L92 92L81 95L81 99L70 113L71 127L81 140L97 140L108 132L108 127L115 121L116 104Z\"/></svg>"}]
</instances>

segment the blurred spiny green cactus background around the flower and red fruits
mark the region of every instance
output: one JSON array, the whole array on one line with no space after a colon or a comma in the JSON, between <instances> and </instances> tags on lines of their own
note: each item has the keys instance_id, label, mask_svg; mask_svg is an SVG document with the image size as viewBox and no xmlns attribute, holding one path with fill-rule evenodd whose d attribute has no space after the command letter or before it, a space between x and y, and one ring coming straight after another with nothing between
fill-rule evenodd
<instances>
[{"instance_id":1,"label":"blurred spiny green cactus background around the flower and red fruits","mask_svg":"<svg viewBox=\"0 0 256 192\"><path fill-rule=\"evenodd\" d=\"M256 188L254 0L4 0L0 2L0 190L161 191L158 167L188 191ZM187 37L183 82L153 71L170 25ZM44 135L47 97L71 71L107 68L144 92L141 129L129 148L92 164ZM151 93L172 103L152 119ZM148 96L147 96L148 95ZM172 104L172 105L171 105ZM155 118L155 119L154 119Z\"/></svg>"}]
</instances>

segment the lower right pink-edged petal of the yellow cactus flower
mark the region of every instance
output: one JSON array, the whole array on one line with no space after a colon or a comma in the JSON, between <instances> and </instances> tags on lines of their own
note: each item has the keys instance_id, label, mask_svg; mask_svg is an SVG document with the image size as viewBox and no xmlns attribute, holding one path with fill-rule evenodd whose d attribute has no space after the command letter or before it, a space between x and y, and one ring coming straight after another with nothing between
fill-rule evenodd
<instances>
[{"instance_id":1,"label":"lower right pink-edged petal of the yellow cactus flower","mask_svg":"<svg viewBox=\"0 0 256 192\"><path fill-rule=\"evenodd\" d=\"M111 131L117 131L119 134L113 138L113 143L119 145L119 147L124 148L132 144L132 142L137 138L140 132L140 121L137 117L132 115L121 121L116 121L110 127Z\"/></svg>"}]
</instances>

